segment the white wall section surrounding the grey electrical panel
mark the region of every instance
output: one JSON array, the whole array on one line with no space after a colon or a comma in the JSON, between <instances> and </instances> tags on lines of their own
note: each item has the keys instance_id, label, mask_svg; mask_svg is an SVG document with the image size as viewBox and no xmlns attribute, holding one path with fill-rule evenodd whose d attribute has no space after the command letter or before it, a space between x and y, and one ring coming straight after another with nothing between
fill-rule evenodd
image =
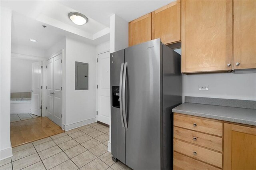
<instances>
[{"instance_id":1,"label":"white wall section surrounding the grey electrical panel","mask_svg":"<svg viewBox=\"0 0 256 170\"><path fill-rule=\"evenodd\" d=\"M66 122L72 124L96 120L96 47L71 38L66 39ZM89 64L89 89L75 90L75 61ZM78 125L78 124L76 124Z\"/></svg>"}]
</instances>

